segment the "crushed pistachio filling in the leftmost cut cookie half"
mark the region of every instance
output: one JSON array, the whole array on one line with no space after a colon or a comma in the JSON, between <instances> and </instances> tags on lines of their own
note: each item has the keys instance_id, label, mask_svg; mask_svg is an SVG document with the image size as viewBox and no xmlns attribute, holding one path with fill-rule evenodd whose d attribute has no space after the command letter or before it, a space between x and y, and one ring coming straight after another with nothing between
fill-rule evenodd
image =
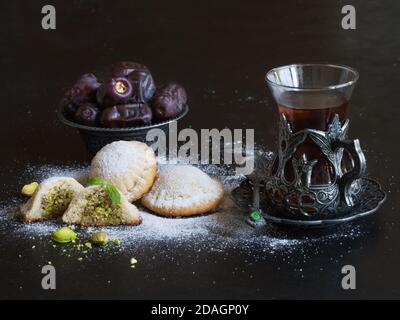
<instances>
[{"instance_id":1,"label":"crushed pistachio filling in the leftmost cut cookie half","mask_svg":"<svg viewBox=\"0 0 400 320\"><path fill-rule=\"evenodd\" d=\"M42 212L45 217L59 216L67 210L73 191L65 186L56 186L42 199Z\"/></svg>"}]
</instances>

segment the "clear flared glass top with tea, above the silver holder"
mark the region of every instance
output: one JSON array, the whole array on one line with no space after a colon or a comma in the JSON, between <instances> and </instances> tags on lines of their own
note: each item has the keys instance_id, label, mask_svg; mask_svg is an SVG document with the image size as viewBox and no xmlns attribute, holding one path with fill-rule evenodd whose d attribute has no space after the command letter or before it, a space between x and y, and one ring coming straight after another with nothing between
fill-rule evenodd
<instances>
[{"instance_id":1,"label":"clear flared glass top with tea, above the silver holder","mask_svg":"<svg viewBox=\"0 0 400 320\"><path fill-rule=\"evenodd\" d=\"M335 113L343 121L358 80L353 68L332 64L293 64L270 70L267 84L294 132L327 130Z\"/></svg>"}]
</instances>

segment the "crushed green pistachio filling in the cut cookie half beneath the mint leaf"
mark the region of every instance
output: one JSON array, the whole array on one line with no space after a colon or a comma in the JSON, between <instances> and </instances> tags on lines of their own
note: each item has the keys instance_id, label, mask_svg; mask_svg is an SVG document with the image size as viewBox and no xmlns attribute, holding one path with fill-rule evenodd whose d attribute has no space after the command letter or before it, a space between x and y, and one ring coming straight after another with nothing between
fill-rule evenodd
<instances>
[{"instance_id":1,"label":"crushed green pistachio filling in the cut cookie half beneath the mint leaf","mask_svg":"<svg viewBox=\"0 0 400 320\"><path fill-rule=\"evenodd\" d=\"M107 190L102 187L86 196L86 205L83 209L84 223L120 224L120 204L113 204Z\"/></svg>"}]
</instances>

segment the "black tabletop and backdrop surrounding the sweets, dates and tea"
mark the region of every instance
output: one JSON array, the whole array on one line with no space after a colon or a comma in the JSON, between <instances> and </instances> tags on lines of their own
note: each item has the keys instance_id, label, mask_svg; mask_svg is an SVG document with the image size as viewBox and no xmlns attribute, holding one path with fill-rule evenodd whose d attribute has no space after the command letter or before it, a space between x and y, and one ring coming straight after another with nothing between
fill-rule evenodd
<instances>
[{"instance_id":1,"label":"black tabletop and backdrop surrounding the sweets, dates and tea","mask_svg":"<svg viewBox=\"0 0 400 320\"><path fill-rule=\"evenodd\" d=\"M119 60L145 63L157 83L185 85L191 110L182 126L254 128L257 144L270 150L276 107L268 69L296 62L358 69L351 135L388 198L376 215L354 222L356 237L318 243L334 231L311 232L312 247L254 256L166 242L138 248L134 272L124 251L87 263L51 244L36 241L33 250L32 239L0 228L1 298L400 297L398 1L352 1L355 30L341 27L346 1L56 0L56 30L41 27L45 4L0 6L2 201L18 197L27 167L88 163L79 134L58 122L55 108L78 75ZM56 290L41 287L47 261L57 266ZM344 265L356 268L356 290L342 289Z\"/></svg>"}]
</instances>

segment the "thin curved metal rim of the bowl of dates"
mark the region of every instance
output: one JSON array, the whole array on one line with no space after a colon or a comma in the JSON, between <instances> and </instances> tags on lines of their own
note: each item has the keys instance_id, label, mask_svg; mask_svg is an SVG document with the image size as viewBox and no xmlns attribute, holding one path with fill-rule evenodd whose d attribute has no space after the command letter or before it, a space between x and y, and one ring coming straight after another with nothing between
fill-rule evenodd
<instances>
[{"instance_id":1,"label":"thin curved metal rim of the bowl of dates","mask_svg":"<svg viewBox=\"0 0 400 320\"><path fill-rule=\"evenodd\" d=\"M129 128L103 128L103 127L91 127L91 126L85 126L83 124L79 124L76 122L73 122L71 120L68 120L63 112L62 112L62 108L59 107L58 111L57 111L57 116L58 119L65 125L75 128L75 129L79 129L79 130L85 130L85 131L95 131L95 132L109 132L109 133L126 133L126 132L135 132L135 131L144 131L144 130L149 130L149 129L155 129L155 128L159 128L162 126L165 126L166 124L169 124L173 121L178 121L180 119L182 119L183 117L185 117L189 112L189 106L187 104L185 104L183 106L183 109L181 111L181 113L179 115L177 115L174 118L171 118L169 120L166 121L161 121L161 122L157 122L154 124L150 124L150 125L144 125L144 126L137 126L137 127L129 127Z\"/></svg>"}]
</instances>

